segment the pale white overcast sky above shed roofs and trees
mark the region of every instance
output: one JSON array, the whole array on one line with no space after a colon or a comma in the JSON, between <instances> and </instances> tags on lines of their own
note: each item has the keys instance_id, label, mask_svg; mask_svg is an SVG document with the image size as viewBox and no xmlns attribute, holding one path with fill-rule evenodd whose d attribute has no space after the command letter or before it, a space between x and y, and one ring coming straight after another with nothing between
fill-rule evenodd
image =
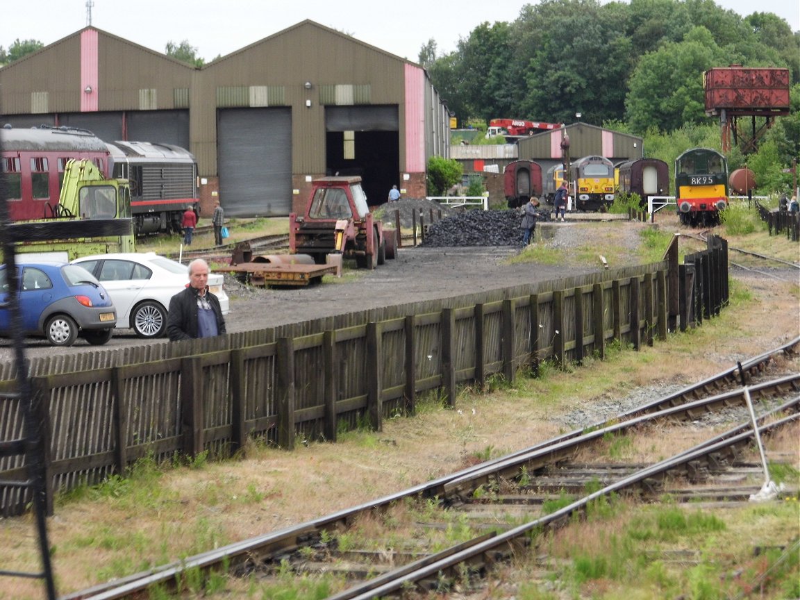
<instances>
[{"instance_id":1,"label":"pale white overcast sky above shed roofs and trees","mask_svg":"<svg viewBox=\"0 0 800 600\"><path fill-rule=\"evenodd\" d=\"M752 0L716 2L743 17L772 12L800 30L798 0L765 0L757 7ZM158 52L167 42L186 40L206 62L306 19L416 62L431 38L438 55L448 54L482 22L514 21L536 0L0 0L0 46L66 38L89 24L87 3L94 5L91 24L100 30Z\"/></svg>"}]
</instances>

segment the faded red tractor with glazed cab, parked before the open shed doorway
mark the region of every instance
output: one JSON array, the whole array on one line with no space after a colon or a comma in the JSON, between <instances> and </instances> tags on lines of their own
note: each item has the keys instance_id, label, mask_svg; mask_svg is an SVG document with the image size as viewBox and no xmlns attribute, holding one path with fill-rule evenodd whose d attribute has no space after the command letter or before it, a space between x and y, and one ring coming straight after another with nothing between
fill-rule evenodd
<instances>
[{"instance_id":1,"label":"faded red tractor with glazed cab, parked before the open shed doorway","mask_svg":"<svg viewBox=\"0 0 800 600\"><path fill-rule=\"evenodd\" d=\"M360 177L315 179L303 214L289 215L289 252L308 254L324 264L328 254L354 258L374 269L394 258L394 230L384 230L366 204Z\"/></svg>"}]
</instances>

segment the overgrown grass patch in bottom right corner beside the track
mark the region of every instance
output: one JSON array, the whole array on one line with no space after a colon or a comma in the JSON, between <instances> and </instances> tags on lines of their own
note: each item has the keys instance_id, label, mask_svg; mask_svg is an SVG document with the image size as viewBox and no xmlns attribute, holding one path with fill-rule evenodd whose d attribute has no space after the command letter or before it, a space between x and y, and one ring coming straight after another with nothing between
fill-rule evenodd
<instances>
[{"instance_id":1,"label":"overgrown grass patch in bottom right corner beside the track","mask_svg":"<svg viewBox=\"0 0 800 600\"><path fill-rule=\"evenodd\" d=\"M539 540L558 581L554 598L722 600L745 598L756 589L759 598L797 597L796 542L770 544L786 518L797 518L796 504L721 513L612 504L614 510L602 516L595 513ZM758 546L766 551L755 553ZM532 586L530 595L519 597L548 598L536 595L541 593Z\"/></svg>"}]
</instances>

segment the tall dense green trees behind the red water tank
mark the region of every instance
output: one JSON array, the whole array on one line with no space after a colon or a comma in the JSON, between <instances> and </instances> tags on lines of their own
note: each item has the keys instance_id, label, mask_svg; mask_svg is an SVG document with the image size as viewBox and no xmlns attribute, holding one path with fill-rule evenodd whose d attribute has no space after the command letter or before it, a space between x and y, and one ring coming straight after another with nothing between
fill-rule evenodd
<instances>
[{"instance_id":1,"label":"tall dense green trees behind the red water tank","mask_svg":"<svg viewBox=\"0 0 800 600\"><path fill-rule=\"evenodd\" d=\"M625 123L634 134L707 122L702 74L780 66L800 82L800 31L772 13L742 18L713 0L543 0L484 22L438 55L419 53L460 124L470 119Z\"/></svg>"}]
</instances>

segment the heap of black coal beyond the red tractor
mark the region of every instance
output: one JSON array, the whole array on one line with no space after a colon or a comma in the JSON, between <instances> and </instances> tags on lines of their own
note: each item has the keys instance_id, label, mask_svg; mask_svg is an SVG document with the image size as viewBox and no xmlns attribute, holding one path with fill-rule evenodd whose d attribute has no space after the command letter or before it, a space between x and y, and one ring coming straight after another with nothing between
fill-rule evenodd
<instances>
[{"instance_id":1,"label":"heap of black coal beyond the red tractor","mask_svg":"<svg viewBox=\"0 0 800 600\"><path fill-rule=\"evenodd\" d=\"M550 213L539 210L538 222L550 220ZM517 210L467 210L434 222L422 246L522 246L519 228L522 213Z\"/></svg>"}]
</instances>

